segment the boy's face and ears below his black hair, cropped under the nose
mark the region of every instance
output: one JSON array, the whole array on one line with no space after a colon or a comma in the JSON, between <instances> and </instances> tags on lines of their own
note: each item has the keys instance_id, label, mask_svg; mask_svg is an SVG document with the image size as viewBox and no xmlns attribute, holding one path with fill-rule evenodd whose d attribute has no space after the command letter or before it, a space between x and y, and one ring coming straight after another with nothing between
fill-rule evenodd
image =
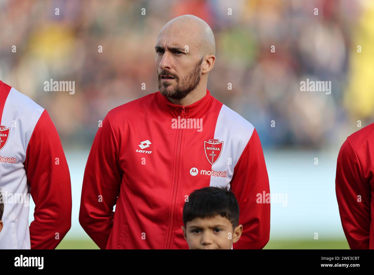
<instances>
[{"instance_id":1,"label":"boy's face and ears below his black hair, cropped under the nose","mask_svg":"<svg viewBox=\"0 0 374 275\"><path fill-rule=\"evenodd\" d=\"M231 222L220 215L195 218L188 221L186 227L182 226L182 229L190 249L231 249L243 230L241 224L233 230Z\"/></svg>"}]
</instances>

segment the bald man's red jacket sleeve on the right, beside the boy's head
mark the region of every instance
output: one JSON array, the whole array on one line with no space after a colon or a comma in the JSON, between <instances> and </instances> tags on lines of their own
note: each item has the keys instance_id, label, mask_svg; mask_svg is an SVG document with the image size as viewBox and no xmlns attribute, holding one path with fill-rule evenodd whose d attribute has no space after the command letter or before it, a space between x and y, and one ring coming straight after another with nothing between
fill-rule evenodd
<instances>
[{"instance_id":1,"label":"bald man's red jacket sleeve on the right, beside the boy's head","mask_svg":"<svg viewBox=\"0 0 374 275\"><path fill-rule=\"evenodd\" d=\"M270 187L256 129L234 167L231 190L239 203L239 224L243 225L242 236L233 249L262 249L270 236L270 203L258 198L269 194Z\"/></svg>"}]
</instances>

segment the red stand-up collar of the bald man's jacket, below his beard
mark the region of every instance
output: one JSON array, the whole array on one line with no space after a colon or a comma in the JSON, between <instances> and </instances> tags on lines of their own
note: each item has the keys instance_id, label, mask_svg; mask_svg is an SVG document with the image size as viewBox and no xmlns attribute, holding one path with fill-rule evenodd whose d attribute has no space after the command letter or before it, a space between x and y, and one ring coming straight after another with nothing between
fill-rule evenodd
<instances>
[{"instance_id":1,"label":"red stand-up collar of the bald man's jacket, below his beard","mask_svg":"<svg viewBox=\"0 0 374 275\"><path fill-rule=\"evenodd\" d=\"M177 118L178 116L182 116L184 107L185 118L197 118L202 116L209 109L214 100L214 97L210 94L209 90L206 89L206 95L203 98L196 101L195 103L192 103L191 105L181 106L171 103L171 101L167 97L165 97L165 95L162 95L160 91L157 91L156 100L160 109L169 116L175 118Z\"/></svg>"}]
</instances>

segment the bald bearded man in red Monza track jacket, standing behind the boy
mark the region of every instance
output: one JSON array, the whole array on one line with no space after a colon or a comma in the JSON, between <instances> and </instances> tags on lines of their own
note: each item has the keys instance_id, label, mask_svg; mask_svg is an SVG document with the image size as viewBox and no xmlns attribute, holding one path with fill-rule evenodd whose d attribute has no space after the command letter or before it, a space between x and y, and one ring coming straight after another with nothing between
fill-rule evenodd
<instances>
[{"instance_id":1,"label":"bald bearded man in red Monza track jacket, standing behind the boy","mask_svg":"<svg viewBox=\"0 0 374 275\"><path fill-rule=\"evenodd\" d=\"M182 226L189 194L229 186L243 225L232 248L263 248L270 191L261 143L254 126L207 89L211 28L193 15L174 18L160 31L155 54L159 91L109 111L96 133L80 224L102 249L188 249ZM193 233L202 234L202 248L215 249L222 227Z\"/></svg>"}]
</instances>

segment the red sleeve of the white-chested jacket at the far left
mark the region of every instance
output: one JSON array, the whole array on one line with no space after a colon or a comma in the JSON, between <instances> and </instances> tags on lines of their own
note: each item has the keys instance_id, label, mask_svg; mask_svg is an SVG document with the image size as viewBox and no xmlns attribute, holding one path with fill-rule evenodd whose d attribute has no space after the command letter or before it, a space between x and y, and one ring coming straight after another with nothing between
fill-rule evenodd
<instances>
[{"instance_id":1,"label":"red sleeve of the white-chested jacket at the far left","mask_svg":"<svg viewBox=\"0 0 374 275\"><path fill-rule=\"evenodd\" d=\"M24 165L35 202L31 249L54 249L71 226L71 184L60 138L46 110L31 135Z\"/></svg>"}]
</instances>

